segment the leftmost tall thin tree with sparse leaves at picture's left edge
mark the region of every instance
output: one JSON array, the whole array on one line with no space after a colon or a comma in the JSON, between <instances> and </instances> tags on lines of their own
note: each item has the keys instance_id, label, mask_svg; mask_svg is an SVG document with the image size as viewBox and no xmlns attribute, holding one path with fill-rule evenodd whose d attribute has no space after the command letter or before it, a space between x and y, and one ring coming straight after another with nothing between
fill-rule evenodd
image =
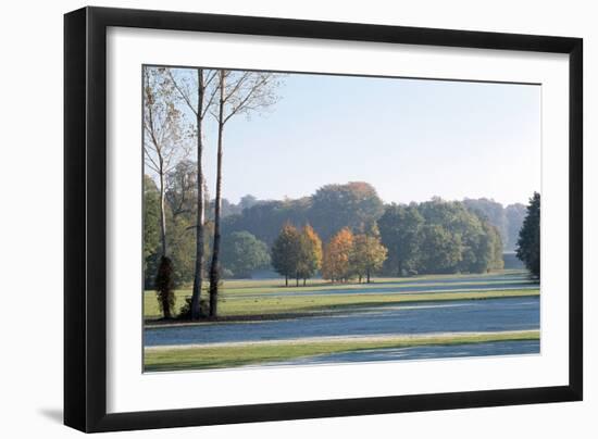
<instances>
[{"instance_id":1,"label":"leftmost tall thin tree with sparse leaves at picture's left edge","mask_svg":"<svg viewBox=\"0 0 598 439\"><path fill-rule=\"evenodd\" d=\"M166 80L165 70L144 68L144 163L158 178L160 193L161 255L166 248L166 176L189 149L182 138L182 113L174 102L174 88Z\"/></svg>"}]
</instances>

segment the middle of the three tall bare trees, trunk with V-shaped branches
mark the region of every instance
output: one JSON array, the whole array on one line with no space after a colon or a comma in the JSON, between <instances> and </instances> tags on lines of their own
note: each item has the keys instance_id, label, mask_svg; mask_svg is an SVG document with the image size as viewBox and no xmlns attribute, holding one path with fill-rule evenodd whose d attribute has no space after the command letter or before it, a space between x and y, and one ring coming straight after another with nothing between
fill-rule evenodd
<instances>
[{"instance_id":1,"label":"middle of the three tall bare trees, trunk with V-shaped branches","mask_svg":"<svg viewBox=\"0 0 598 439\"><path fill-rule=\"evenodd\" d=\"M196 262L194 275L194 289L191 293L191 319L199 319L201 316L201 284L203 275L204 256L204 180L203 175L203 120L212 106L215 99L217 87L212 87L216 71L204 71L197 68L196 80L189 78L176 77L171 70L167 71L169 77L177 91L178 98L185 102L187 108L195 116L196 141L197 141L197 223L196 227Z\"/></svg>"}]
</instances>

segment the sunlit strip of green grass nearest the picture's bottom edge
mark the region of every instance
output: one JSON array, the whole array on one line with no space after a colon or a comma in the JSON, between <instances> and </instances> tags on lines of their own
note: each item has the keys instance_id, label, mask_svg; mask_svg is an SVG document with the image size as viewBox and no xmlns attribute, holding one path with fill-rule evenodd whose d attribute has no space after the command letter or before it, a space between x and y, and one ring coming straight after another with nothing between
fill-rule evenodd
<instances>
[{"instance_id":1,"label":"sunlit strip of green grass nearest the picture's bottom edge","mask_svg":"<svg viewBox=\"0 0 598 439\"><path fill-rule=\"evenodd\" d=\"M409 348L431 344L464 344L489 341L538 340L538 330L431 336L390 336L321 340L244 342L221 346L146 348L146 372L225 368L288 361L301 356L379 348Z\"/></svg>"}]
</instances>

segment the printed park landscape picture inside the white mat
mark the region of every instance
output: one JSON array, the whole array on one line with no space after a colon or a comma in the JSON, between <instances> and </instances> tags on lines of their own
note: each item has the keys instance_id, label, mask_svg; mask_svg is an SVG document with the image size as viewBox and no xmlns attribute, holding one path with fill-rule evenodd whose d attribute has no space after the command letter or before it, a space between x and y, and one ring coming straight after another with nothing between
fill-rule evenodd
<instances>
[{"instance_id":1,"label":"printed park landscape picture inside the white mat","mask_svg":"<svg viewBox=\"0 0 598 439\"><path fill-rule=\"evenodd\" d=\"M145 372L539 353L533 86L142 75ZM472 106L454 103L457 91ZM447 108L418 108L429 97ZM504 102L485 116L474 103L489 97ZM500 141L521 156L479 153L491 148L476 136L506 131L490 123L497 105L510 114L518 102L532 116L512 114L523 126L504 116ZM367 120L363 105L374 104L397 120ZM397 135L403 121L409 141ZM378 141L364 147L360 134ZM451 138L457 162L445 175ZM460 155L468 141L476 153Z\"/></svg>"}]
</instances>

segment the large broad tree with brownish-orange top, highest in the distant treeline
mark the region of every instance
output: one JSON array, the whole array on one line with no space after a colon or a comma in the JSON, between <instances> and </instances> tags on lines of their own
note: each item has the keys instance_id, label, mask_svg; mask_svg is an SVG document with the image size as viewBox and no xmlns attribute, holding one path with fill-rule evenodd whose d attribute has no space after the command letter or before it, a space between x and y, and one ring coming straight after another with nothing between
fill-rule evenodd
<instances>
[{"instance_id":1,"label":"large broad tree with brownish-orange top, highest in the distant treeline","mask_svg":"<svg viewBox=\"0 0 598 439\"><path fill-rule=\"evenodd\" d=\"M363 224L371 224L384 212L376 190L364 181L323 186L311 202L310 222L324 240L342 227L357 230Z\"/></svg>"}]
</instances>

